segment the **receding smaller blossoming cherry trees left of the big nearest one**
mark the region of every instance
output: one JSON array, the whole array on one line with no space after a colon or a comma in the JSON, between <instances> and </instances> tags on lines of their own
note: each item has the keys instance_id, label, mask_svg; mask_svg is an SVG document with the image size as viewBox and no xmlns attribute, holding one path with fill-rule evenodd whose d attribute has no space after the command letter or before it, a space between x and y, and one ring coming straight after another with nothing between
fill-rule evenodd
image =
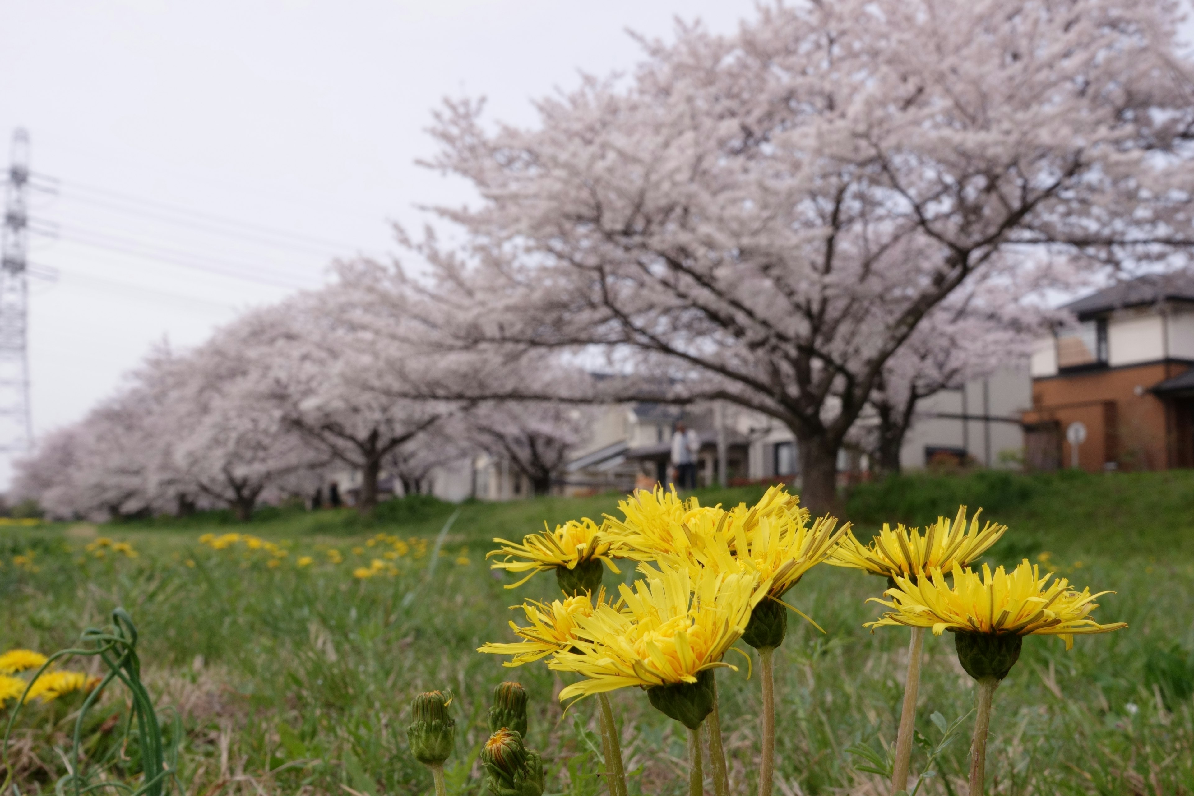
<instances>
[{"instance_id":1,"label":"receding smaller blossoming cherry trees left of the big nearest one","mask_svg":"<svg viewBox=\"0 0 1194 796\"><path fill-rule=\"evenodd\" d=\"M18 464L14 490L55 516L216 505L244 519L260 500L309 495L350 469L369 512L381 473L420 492L435 467L487 451L546 492L584 409L468 400L457 380L496 393L503 380L533 383L547 363L435 351L425 331L412 335L392 314L400 302L375 276L346 270L337 285L251 311L193 351L153 352L115 396L48 434Z\"/></svg>"}]
</instances>

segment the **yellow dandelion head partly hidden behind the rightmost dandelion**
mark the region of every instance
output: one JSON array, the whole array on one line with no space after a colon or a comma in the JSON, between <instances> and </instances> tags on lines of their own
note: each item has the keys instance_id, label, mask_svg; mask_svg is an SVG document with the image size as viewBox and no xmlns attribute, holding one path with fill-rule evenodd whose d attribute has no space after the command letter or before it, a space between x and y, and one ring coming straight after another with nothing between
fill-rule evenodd
<instances>
[{"instance_id":1,"label":"yellow dandelion head partly hidden behind the rightmost dandelion","mask_svg":"<svg viewBox=\"0 0 1194 796\"><path fill-rule=\"evenodd\" d=\"M949 572L954 564L966 567L1008 530L1007 525L990 522L980 530L978 518L981 513L981 508L974 512L967 530L966 506L961 506L953 523L938 517L936 523L924 529L924 535L917 527L897 525L892 530L884 523L882 530L867 545L851 532L842 539L826 563L864 569L893 580L905 575L921 578L933 568Z\"/></svg>"}]
</instances>

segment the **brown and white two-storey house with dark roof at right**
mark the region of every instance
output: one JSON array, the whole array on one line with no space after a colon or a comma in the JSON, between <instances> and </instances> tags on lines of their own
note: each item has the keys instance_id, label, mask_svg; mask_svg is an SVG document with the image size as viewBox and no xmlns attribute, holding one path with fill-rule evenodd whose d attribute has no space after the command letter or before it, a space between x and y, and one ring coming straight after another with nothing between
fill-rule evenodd
<instances>
[{"instance_id":1,"label":"brown and white two-storey house with dark roof at right","mask_svg":"<svg viewBox=\"0 0 1194 796\"><path fill-rule=\"evenodd\" d=\"M1145 276L1079 298L1033 348L1024 457L1034 469L1194 467L1194 277ZM1077 446L1072 424L1085 427Z\"/></svg>"}]
</instances>

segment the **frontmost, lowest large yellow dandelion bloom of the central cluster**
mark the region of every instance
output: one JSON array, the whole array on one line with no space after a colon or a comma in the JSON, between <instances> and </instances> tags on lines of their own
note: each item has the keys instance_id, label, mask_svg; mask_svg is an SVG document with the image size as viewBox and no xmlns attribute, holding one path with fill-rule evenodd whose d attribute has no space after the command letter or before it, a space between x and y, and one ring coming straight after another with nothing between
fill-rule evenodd
<instances>
[{"instance_id":1,"label":"frontmost, lowest large yellow dandelion bloom of the central cluster","mask_svg":"<svg viewBox=\"0 0 1194 796\"><path fill-rule=\"evenodd\" d=\"M623 611L596 609L577 616L576 638L548 667L585 679L568 685L560 699L586 697L630 685L652 687L696 683L719 666L763 597L758 578L749 573L690 573L659 561L642 564L645 580L632 591L622 585ZM734 667L731 667L734 668Z\"/></svg>"}]
</instances>

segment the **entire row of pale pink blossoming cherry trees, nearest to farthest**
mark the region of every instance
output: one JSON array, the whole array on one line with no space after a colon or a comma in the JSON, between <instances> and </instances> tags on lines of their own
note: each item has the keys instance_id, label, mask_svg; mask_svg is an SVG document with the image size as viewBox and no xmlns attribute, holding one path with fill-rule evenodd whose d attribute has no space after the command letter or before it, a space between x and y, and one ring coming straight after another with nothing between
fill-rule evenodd
<instances>
[{"instance_id":1,"label":"entire row of pale pink blossoming cherry trees, nearest to farthest","mask_svg":"<svg viewBox=\"0 0 1194 796\"><path fill-rule=\"evenodd\" d=\"M417 483L463 445L542 487L586 402L721 400L790 428L804 500L829 508L851 436L897 468L917 402L1022 356L1057 289L1186 265L1178 11L765 5L732 35L644 41L531 127L447 101L425 165L475 191L431 209L451 243L399 229L410 273L344 266L149 358L23 477L69 464L53 506L251 505L336 462L369 505L381 469Z\"/></svg>"}]
</instances>

